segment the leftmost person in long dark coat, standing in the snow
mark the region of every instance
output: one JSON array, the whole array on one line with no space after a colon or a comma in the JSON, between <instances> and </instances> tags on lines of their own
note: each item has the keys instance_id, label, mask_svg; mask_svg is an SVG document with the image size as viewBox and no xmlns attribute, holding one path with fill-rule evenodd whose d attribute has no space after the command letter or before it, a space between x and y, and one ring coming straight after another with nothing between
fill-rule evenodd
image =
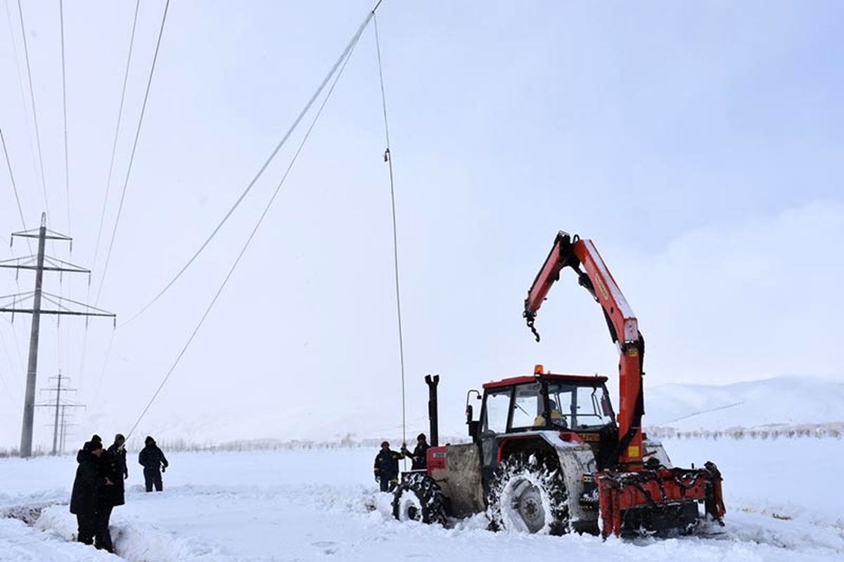
<instances>
[{"instance_id":1,"label":"leftmost person in long dark coat, standing in the snow","mask_svg":"<svg viewBox=\"0 0 844 562\"><path fill-rule=\"evenodd\" d=\"M102 452L101 443L87 442L76 455L79 466L76 468L76 479L73 480L73 492L70 495L70 512L76 516L77 540L80 543L94 543L100 490L105 484L100 476Z\"/></svg>"}]
</instances>

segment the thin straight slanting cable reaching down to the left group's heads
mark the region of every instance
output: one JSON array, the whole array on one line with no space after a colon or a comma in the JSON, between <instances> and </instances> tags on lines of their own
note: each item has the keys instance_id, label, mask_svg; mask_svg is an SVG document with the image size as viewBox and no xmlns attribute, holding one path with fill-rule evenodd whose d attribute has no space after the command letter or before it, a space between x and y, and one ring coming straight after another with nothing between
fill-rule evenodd
<instances>
[{"instance_id":1,"label":"thin straight slanting cable reaching down to the left group's heads","mask_svg":"<svg viewBox=\"0 0 844 562\"><path fill-rule=\"evenodd\" d=\"M374 14L374 10L371 14ZM369 23L369 18L366 19L365 23ZM143 412L141 412L141 415L138 416L138 420L135 421L135 425L132 426L132 429L128 432L128 434L126 436L127 440L129 438L129 436L131 436L133 434L135 429L138 428L138 424L140 424L141 420L143 420L143 416L147 414L147 412L149 411L149 407L152 406L155 399L158 398L158 395L161 392L161 389L164 388L165 384L170 379L170 375L172 375L173 372L176 370L176 366L179 364L179 361L181 361L182 356L185 355L187 348L191 345L193 339L196 337L197 333L199 332L199 329L202 328L202 325L205 322L205 318L208 318L208 314L211 313L211 309L214 308L214 304L217 302L217 299L219 298L220 294L225 289L225 286L228 284L232 274L234 274L235 269L237 268L237 265L241 262L241 258L243 257L243 254L246 254L246 249L248 249L249 244L252 243L252 238L255 238L255 234L257 233L258 228L261 227L261 223L263 222L264 218L267 217L267 214L268 214L270 208L273 206L273 202L275 201L275 198L279 195L279 192L281 191L281 188L284 186L284 182L287 179L287 176L290 174L290 170L293 169L293 166L296 163L296 160L299 158L299 155L302 152L302 148L305 147L305 144L308 140L308 137L311 136L311 131L313 131L314 126L317 125L317 120L319 120L320 115L322 115L322 110L325 109L325 106L328 103L328 99L331 98L331 94L334 91L334 87L337 86L337 83L338 83L340 77L343 75L343 71L345 70L346 65L349 63L349 60L352 57L352 53L354 52L354 47L358 44L358 40L360 40L360 35L362 34L363 29L365 29L365 25L364 25L364 28L360 29L360 32L356 35L356 39L354 40L354 42L349 45L349 49L347 49L348 56L345 57L344 61L340 65L339 70L337 72L337 75L335 76L333 83L331 84L331 88L328 88L328 91L325 95L325 98L322 100L322 104L320 104L316 115L314 115L314 118L311 121L311 126L308 127L308 130L306 131L305 136L302 137L302 140L299 143L299 147L296 148L296 152L293 154L293 158L291 158L287 169L284 170L284 175L282 175L281 179L279 180L279 185L277 185L276 188L275 188L275 191L273 191L273 196L270 197L267 205L264 207L264 210L261 213L261 217L258 217L258 220L255 223L255 227L253 227L252 232L249 233L249 238L246 238L246 243L243 244L243 247L241 248L240 254L237 254L237 258L235 259L235 262L231 265L231 268L230 268L229 272L226 274L225 279L220 284L219 289L217 289L217 292L214 294L214 298L211 299L211 302L208 304L208 308L205 309L205 312L203 313L202 318L199 319L199 323L197 324L196 328L193 329L191 336L187 339L187 343L181 348L179 355L176 356L176 361L173 361L172 366L170 366L170 370L167 372L164 379L161 381L159 387L156 388L155 393L153 394L152 398L149 399L149 403L147 403L146 407L143 409Z\"/></svg>"}]
</instances>

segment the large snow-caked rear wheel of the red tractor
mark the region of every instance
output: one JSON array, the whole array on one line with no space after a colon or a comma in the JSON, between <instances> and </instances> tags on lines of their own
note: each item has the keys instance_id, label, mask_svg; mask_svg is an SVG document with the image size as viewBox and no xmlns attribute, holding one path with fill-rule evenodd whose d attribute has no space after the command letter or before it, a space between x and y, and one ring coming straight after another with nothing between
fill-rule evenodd
<instances>
[{"instance_id":1,"label":"large snow-caked rear wheel of the red tractor","mask_svg":"<svg viewBox=\"0 0 844 562\"><path fill-rule=\"evenodd\" d=\"M559 463L543 452L518 453L495 469L487 502L491 527L515 533L569 532L568 494Z\"/></svg>"}]
</instances>

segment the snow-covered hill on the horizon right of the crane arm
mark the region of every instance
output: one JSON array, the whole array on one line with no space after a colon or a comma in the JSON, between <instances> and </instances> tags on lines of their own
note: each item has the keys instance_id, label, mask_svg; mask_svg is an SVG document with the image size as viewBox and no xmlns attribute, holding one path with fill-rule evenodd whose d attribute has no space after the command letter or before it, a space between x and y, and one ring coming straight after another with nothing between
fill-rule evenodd
<instances>
[{"instance_id":1,"label":"snow-covered hill on the horizon right of the crane arm","mask_svg":"<svg viewBox=\"0 0 844 562\"><path fill-rule=\"evenodd\" d=\"M844 422L844 383L776 377L724 386L667 384L647 388L645 425L678 429Z\"/></svg>"}]
</instances>

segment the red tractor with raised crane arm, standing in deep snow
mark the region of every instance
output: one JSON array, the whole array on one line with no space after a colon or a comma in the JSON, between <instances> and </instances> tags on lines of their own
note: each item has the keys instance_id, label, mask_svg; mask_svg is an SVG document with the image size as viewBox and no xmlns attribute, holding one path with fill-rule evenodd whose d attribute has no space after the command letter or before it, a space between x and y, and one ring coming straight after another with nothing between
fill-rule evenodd
<instances>
[{"instance_id":1,"label":"red tractor with raised crane arm, standing in deep snow","mask_svg":"<svg viewBox=\"0 0 844 562\"><path fill-rule=\"evenodd\" d=\"M533 375L484 384L467 394L472 442L438 447L436 386L430 388L431 447L425 470L403 473L395 517L445 522L486 512L490 527L522 533L689 532L703 516L721 522L721 474L675 468L641 431L645 341L630 306L590 240L560 232L527 292L524 317L537 341L536 313L566 267L603 308L619 350L619 415L607 377ZM479 419L473 399L480 399Z\"/></svg>"}]
</instances>

